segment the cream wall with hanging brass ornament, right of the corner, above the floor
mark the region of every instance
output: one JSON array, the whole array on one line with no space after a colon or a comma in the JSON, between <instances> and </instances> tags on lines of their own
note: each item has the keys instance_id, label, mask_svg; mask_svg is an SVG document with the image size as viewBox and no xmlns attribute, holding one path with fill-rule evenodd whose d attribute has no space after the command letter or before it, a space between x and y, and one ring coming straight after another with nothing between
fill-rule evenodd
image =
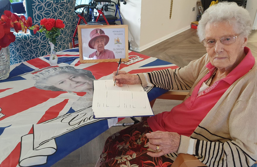
<instances>
[{"instance_id":1,"label":"cream wall with hanging brass ornament, right of the corner, above the floor","mask_svg":"<svg viewBox=\"0 0 257 167\"><path fill-rule=\"evenodd\" d=\"M190 28L199 13L197 0L142 0L140 51ZM192 11L195 7L195 11Z\"/></svg>"}]
</instances>

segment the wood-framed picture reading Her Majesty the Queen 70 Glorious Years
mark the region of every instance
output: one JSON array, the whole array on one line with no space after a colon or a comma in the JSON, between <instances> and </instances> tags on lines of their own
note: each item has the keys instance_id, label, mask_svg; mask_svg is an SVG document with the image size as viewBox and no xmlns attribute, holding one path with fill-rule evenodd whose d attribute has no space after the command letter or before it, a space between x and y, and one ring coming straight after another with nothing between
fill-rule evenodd
<instances>
[{"instance_id":1,"label":"wood-framed picture reading Her Majesty the Queen 70 Glorious Years","mask_svg":"<svg viewBox=\"0 0 257 167\"><path fill-rule=\"evenodd\" d=\"M79 25L80 63L129 61L128 25Z\"/></svg>"}]
</instances>

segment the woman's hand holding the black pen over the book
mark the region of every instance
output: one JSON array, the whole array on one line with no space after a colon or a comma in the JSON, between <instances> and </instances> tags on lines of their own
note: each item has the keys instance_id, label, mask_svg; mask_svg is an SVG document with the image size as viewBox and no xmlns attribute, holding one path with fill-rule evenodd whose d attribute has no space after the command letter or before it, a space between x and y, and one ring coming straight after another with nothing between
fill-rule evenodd
<instances>
[{"instance_id":1,"label":"woman's hand holding the black pen over the book","mask_svg":"<svg viewBox=\"0 0 257 167\"><path fill-rule=\"evenodd\" d=\"M141 79L138 75L129 74L126 71L119 71L118 75L116 75L117 71L113 72L112 78L113 81L116 79L116 85L122 86L123 84L142 84ZM115 76L116 75L116 76Z\"/></svg>"}]
</instances>

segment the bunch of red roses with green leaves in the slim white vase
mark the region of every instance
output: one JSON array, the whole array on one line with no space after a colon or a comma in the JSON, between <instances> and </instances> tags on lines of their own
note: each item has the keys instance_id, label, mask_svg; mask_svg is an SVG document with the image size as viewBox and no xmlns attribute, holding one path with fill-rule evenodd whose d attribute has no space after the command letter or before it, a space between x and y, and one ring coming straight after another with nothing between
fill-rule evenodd
<instances>
[{"instance_id":1,"label":"bunch of red roses with green leaves in the slim white vase","mask_svg":"<svg viewBox=\"0 0 257 167\"><path fill-rule=\"evenodd\" d=\"M49 41L53 44L56 43L56 37L60 35L60 29L64 28L63 21L60 19L42 19L40 21L42 28L40 32L46 33L46 38L49 38Z\"/></svg>"}]
</instances>

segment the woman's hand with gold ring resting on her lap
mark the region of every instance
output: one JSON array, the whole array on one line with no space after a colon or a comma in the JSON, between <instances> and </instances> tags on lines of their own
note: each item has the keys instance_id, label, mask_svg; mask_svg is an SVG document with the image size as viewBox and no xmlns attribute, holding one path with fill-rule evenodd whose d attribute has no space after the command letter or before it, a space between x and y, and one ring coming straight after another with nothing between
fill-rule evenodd
<instances>
[{"instance_id":1,"label":"woman's hand with gold ring resting on her lap","mask_svg":"<svg viewBox=\"0 0 257 167\"><path fill-rule=\"evenodd\" d=\"M175 132L156 131L147 133L146 137L149 139L148 147L150 149L156 150L156 146L159 145L159 151L148 152L147 155L149 156L159 157L164 154L178 151L180 135Z\"/></svg>"}]
</instances>

